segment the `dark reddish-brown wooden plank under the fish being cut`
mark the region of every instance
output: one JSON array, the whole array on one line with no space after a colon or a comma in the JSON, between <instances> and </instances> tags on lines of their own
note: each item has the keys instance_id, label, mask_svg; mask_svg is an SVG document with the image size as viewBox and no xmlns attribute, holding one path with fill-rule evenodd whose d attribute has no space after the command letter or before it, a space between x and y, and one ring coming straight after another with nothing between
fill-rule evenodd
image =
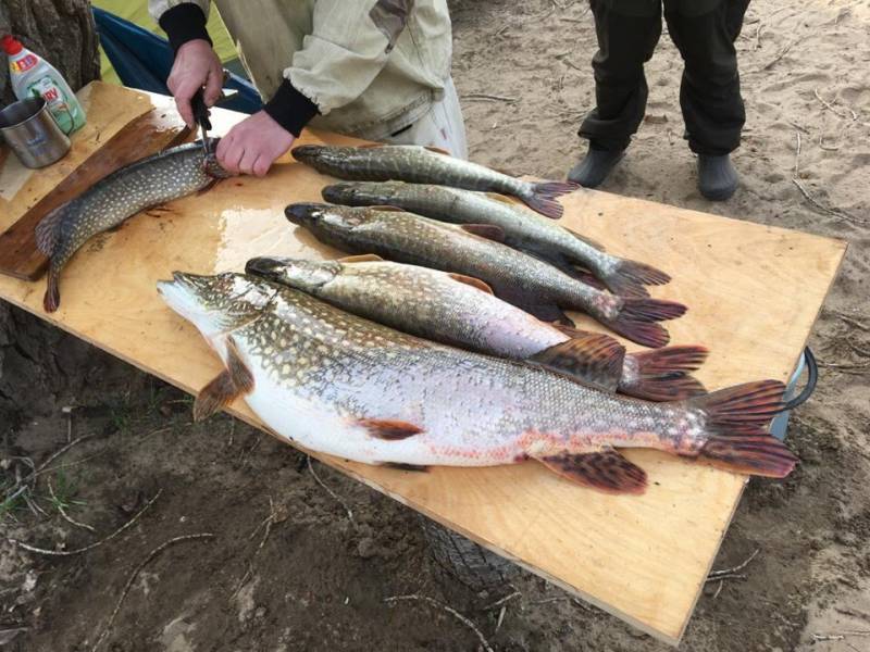
<instances>
[{"instance_id":1,"label":"dark reddish-brown wooden plank under the fish being cut","mask_svg":"<svg viewBox=\"0 0 870 652\"><path fill-rule=\"evenodd\" d=\"M175 111L153 109L130 122L0 234L0 274L24 280L38 279L48 263L36 247L35 229L42 217L119 167L179 145L189 136L190 130Z\"/></svg>"}]
</instances>

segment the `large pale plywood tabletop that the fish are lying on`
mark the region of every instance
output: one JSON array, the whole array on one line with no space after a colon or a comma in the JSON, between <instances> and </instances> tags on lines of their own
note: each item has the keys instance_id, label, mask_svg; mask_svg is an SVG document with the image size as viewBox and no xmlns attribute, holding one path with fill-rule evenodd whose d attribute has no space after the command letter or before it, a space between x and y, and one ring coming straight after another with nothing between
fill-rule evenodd
<instances>
[{"instance_id":1,"label":"large pale plywood tabletop that the fish are lying on","mask_svg":"<svg viewBox=\"0 0 870 652\"><path fill-rule=\"evenodd\" d=\"M243 117L214 111L215 131ZM299 143L306 142L353 141L306 133ZM263 179L223 181L86 244L63 273L57 313L42 312L45 281L0 277L0 297L195 393L221 371L217 356L163 304L156 280L174 269L241 271L253 255L340 255L283 215L289 202L320 200L328 181L298 163ZM710 389L788 378L846 249L605 192L579 191L563 203L567 226L673 275L651 291L689 306L669 323L672 343L711 349L697 374ZM229 411L262 427L243 402ZM746 481L652 451L626 453L649 475L641 497L586 490L536 463L420 474L315 456L671 643L682 636Z\"/></svg>"}]
</instances>

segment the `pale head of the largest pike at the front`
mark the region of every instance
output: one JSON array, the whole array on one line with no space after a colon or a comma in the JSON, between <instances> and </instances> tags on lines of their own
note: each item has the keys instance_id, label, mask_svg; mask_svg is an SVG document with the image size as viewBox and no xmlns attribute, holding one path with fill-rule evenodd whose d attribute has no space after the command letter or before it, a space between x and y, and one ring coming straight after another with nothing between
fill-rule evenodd
<instances>
[{"instance_id":1,"label":"pale head of the largest pike at the front","mask_svg":"<svg viewBox=\"0 0 870 652\"><path fill-rule=\"evenodd\" d=\"M207 338L229 333L252 322L270 304L277 288L261 278L224 273L213 276L174 272L160 280L163 301L192 323Z\"/></svg>"}]
</instances>

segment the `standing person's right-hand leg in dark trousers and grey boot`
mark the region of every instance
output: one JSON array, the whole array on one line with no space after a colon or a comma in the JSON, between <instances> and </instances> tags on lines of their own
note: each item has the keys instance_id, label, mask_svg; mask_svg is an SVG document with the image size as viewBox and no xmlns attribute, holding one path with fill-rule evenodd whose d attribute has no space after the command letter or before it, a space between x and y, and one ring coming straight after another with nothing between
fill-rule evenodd
<instances>
[{"instance_id":1,"label":"standing person's right-hand leg in dark trousers and grey boot","mask_svg":"<svg viewBox=\"0 0 870 652\"><path fill-rule=\"evenodd\" d=\"M748 4L748 0L684 1L666 5L664 11L685 62L680 105L686 138L698 154L698 187L710 200L728 199L737 187L729 154L739 147L746 111L734 40Z\"/></svg>"}]
</instances>

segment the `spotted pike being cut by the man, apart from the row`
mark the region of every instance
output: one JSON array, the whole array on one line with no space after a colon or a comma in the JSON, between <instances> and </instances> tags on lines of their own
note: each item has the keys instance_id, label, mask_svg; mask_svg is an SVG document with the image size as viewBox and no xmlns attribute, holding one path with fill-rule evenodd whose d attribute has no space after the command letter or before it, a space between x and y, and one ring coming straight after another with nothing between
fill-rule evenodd
<instances>
[{"instance_id":1,"label":"spotted pike being cut by the man, apart from the row","mask_svg":"<svg viewBox=\"0 0 870 652\"><path fill-rule=\"evenodd\" d=\"M212 139L211 151L217 140ZM36 243L50 259L42 301L46 312L58 310L61 271L90 238L145 209L203 190L228 176L213 155L203 158L202 152L202 142L192 142L125 165L39 222Z\"/></svg>"}]
</instances>

